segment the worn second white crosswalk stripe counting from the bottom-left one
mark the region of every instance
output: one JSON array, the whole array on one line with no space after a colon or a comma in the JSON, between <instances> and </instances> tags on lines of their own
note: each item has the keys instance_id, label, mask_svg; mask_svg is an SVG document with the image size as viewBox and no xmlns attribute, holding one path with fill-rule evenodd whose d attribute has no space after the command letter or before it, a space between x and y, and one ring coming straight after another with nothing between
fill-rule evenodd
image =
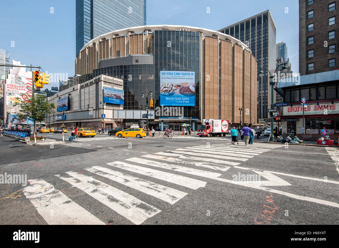
<instances>
[{"instance_id":1,"label":"worn second white crosswalk stripe counting from the bottom-left one","mask_svg":"<svg viewBox=\"0 0 339 248\"><path fill-rule=\"evenodd\" d=\"M57 176L105 204L134 224L139 225L147 218L161 212L156 207L92 177L74 171L66 173L71 177ZM105 186L105 188L97 187L99 185Z\"/></svg>"}]
</instances>

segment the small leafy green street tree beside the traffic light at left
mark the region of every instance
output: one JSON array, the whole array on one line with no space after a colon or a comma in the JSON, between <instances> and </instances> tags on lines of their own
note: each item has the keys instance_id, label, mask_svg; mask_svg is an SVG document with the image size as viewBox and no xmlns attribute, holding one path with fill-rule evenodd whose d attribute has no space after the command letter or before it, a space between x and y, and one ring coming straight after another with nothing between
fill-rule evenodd
<instances>
[{"instance_id":1,"label":"small leafy green street tree beside the traffic light at left","mask_svg":"<svg viewBox=\"0 0 339 248\"><path fill-rule=\"evenodd\" d=\"M21 96L25 95L24 93ZM22 100L25 99L25 100ZM21 109L18 111L17 116L20 119L31 118L35 123L44 121L46 114L51 114L55 108L54 103L48 103L46 97L40 94L33 96L25 95L23 98L17 97L13 106L19 106Z\"/></svg>"}]
</instances>

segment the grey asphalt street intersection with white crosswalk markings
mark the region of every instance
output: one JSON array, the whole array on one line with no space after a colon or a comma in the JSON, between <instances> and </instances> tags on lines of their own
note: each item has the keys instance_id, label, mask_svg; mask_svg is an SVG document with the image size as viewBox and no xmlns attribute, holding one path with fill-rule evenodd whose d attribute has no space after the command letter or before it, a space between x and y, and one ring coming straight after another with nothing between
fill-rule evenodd
<instances>
[{"instance_id":1,"label":"grey asphalt street intersection with white crosswalk markings","mask_svg":"<svg viewBox=\"0 0 339 248\"><path fill-rule=\"evenodd\" d=\"M1 224L339 224L336 148L68 137L0 138Z\"/></svg>"}]
</instances>

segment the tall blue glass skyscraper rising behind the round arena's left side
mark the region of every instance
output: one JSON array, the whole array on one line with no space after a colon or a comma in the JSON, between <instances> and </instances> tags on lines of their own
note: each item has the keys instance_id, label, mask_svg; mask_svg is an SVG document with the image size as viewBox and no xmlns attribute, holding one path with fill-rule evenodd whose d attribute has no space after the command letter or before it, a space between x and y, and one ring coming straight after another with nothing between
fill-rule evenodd
<instances>
[{"instance_id":1,"label":"tall blue glass skyscraper rising behind the round arena's left side","mask_svg":"<svg viewBox=\"0 0 339 248\"><path fill-rule=\"evenodd\" d=\"M76 54L99 35L146 25L146 0L76 0Z\"/></svg>"}]
</instances>

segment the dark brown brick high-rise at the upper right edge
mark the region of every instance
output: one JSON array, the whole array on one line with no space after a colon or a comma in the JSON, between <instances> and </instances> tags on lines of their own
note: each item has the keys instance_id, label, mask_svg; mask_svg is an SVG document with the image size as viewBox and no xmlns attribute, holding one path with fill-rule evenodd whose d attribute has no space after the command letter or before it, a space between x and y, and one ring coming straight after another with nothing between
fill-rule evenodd
<instances>
[{"instance_id":1,"label":"dark brown brick high-rise at the upper right edge","mask_svg":"<svg viewBox=\"0 0 339 248\"><path fill-rule=\"evenodd\" d=\"M339 35L338 4L338 0L299 1L300 75L339 69L336 47Z\"/></svg>"}]
</instances>

